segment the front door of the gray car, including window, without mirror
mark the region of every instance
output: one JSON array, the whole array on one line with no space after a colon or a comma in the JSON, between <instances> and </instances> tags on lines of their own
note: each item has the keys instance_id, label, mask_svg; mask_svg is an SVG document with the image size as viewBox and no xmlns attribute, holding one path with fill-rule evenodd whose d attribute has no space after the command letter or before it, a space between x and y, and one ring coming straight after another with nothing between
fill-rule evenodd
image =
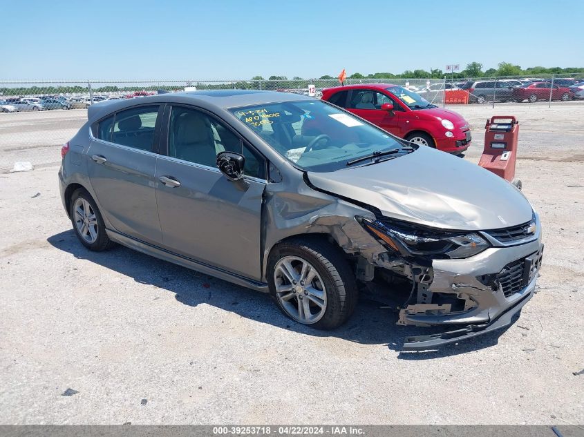
<instances>
[{"instance_id":1,"label":"front door of the gray car, including window, without mirror","mask_svg":"<svg viewBox=\"0 0 584 437\"><path fill-rule=\"evenodd\" d=\"M261 278L265 161L225 124L196 108L173 106L166 155L156 165L162 241L169 251L246 278ZM217 153L245 157L245 178L230 182Z\"/></svg>"}]
</instances>

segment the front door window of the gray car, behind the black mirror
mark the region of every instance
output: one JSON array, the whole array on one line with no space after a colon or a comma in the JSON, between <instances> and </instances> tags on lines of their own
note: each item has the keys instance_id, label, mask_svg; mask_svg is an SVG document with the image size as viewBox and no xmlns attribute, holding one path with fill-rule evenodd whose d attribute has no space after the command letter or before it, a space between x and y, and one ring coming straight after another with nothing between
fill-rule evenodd
<instances>
[{"instance_id":1,"label":"front door window of the gray car, behind the black mirror","mask_svg":"<svg viewBox=\"0 0 584 437\"><path fill-rule=\"evenodd\" d=\"M224 151L245 157L245 175L265 179L264 159L247 148L232 130L198 110L172 108L169 156L216 168L217 155Z\"/></svg>"}]
</instances>

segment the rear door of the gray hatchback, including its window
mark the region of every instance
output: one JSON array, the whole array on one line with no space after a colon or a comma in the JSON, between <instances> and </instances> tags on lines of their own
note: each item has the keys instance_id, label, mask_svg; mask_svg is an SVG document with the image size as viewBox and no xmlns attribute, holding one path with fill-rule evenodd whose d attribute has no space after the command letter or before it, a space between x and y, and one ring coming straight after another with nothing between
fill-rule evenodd
<instances>
[{"instance_id":1,"label":"rear door of the gray hatchback, including its window","mask_svg":"<svg viewBox=\"0 0 584 437\"><path fill-rule=\"evenodd\" d=\"M151 244L162 233L154 193L160 105L134 106L93 128L88 174L97 202L115 231Z\"/></svg>"}]
</instances>

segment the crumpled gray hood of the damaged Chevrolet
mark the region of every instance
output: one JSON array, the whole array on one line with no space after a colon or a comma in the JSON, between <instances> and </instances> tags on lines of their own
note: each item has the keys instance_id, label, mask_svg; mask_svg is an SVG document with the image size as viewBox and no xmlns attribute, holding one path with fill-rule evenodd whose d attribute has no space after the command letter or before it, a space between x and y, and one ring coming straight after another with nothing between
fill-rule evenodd
<instances>
[{"instance_id":1,"label":"crumpled gray hood of the damaged Chevrolet","mask_svg":"<svg viewBox=\"0 0 584 437\"><path fill-rule=\"evenodd\" d=\"M409 155L328 173L308 172L316 188L369 204L386 217L455 230L486 230L531 220L531 205L505 179L460 157L421 147Z\"/></svg>"}]
</instances>

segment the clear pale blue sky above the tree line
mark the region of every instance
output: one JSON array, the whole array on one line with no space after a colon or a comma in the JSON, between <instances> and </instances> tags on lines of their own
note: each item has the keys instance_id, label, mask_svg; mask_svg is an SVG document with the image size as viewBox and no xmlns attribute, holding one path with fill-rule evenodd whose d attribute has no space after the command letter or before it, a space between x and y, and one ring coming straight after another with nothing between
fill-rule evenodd
<instances>
[{"instance_id":1,"label":"clear pale blue sky above the tree line","mask_svg":"<svg viewBox=\"0 0 584 437\"><path fill-rule=\"evenodd\" d=\"M584 66L574 1L0 0L0 10L0 79Z\"/></svg>"}]
</instances>

